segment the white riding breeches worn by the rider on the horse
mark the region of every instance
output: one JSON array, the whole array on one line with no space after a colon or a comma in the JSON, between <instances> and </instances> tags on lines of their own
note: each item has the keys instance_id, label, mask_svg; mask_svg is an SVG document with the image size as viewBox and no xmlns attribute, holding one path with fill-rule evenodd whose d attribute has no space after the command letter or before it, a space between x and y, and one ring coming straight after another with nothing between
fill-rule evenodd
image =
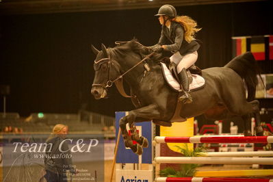
<instances>
[{"instance_id":1,"label":"white riding breeches worn by the rider on the horse","mask_svg":"<svg viewBox=\"0 0 273 182\"><path fill-rule=\"evenodd\" d=\"M183 68L190 68L190 66L192 66L196 62L197 58L197 51L194 51L193 53L189 53L184 56L182 56L179 51L177 51L170 57L170 62L174 62L175 64L177 64L177 73L180 73Z\"/></svg>"}]
</instances>

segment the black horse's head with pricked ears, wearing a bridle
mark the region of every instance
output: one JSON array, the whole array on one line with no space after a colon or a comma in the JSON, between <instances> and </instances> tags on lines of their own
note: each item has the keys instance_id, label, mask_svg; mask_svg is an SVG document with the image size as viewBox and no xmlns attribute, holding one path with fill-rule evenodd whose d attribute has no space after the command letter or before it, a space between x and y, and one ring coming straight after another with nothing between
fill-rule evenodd
<instances>
[{"instance_id":1,"label":"black horse's head with pricked ears, wearing a bridle","mask_svg":"<svg viewBox=\"0 0 273 182\"><path fill-rule=\"evenodd\" d=\"M101 44L101 49L102 51L99 51L92 46L96 60L94 61L95 76L91 93L95 99L105 98L107 96L107 88L111 87L114 79L120 75L118 62L112 60L104 44Z\"/></svg>"}]
</instances>

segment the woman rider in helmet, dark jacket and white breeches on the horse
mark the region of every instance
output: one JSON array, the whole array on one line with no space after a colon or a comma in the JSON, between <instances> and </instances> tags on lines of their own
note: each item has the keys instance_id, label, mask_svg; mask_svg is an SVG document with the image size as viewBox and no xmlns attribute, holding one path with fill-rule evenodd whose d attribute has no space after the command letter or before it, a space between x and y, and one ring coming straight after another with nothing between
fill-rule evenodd
<instances>
[{"instance_id":1,"label":"woman rider in helmet, dark jacket and white breeches on the horse","mask_svg":"<svg viewBox=\"0 0 273 182\"><path fill-rule=\"evenodd\" d=\"M173 53L170 62L177 66L181 90L183 90L179 101L191 103L192 96L188 93L189 81L186 69L197 60L200 44L195 41L194 36L200 29L196 28L196 21L189 16L177 16L177 10L172 5L162 5L155 16L159 16L162 27L159 42L152 49L157 52L164 49Z\"/></svg>"}]
</instances>

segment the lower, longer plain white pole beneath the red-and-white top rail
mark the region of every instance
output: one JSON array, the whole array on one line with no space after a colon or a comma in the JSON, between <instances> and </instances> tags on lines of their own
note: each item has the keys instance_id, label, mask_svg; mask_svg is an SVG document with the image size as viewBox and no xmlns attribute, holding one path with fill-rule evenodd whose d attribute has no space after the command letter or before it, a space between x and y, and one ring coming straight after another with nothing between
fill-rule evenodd
<instances>
[{"instance_id":1,"label":"lower, longer plain white pole beneath the red-and-white top rail","mask_svg":"<svg viewBox=\"0 0 273 182\"><path fill-rule=\"evenodd\" d=\"M155 164L263 164L272 165L273 157L155 157Z\"/></svg>"}]
</instances>

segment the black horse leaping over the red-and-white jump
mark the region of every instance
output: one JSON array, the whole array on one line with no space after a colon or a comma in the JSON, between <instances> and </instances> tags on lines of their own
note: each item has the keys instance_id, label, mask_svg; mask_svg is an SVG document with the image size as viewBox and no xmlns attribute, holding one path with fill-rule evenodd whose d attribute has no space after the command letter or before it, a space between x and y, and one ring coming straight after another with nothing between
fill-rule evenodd
<instances>
[{"instance_id":1,"label":"black horse leaping over the red-and-white jump","mask_svg":"<svg viewBox=\"0 0 273 182\"><path fill-rule=\"evenodd\" d=\"M149 55L143 60L143 54L148 54L147 50L135 40L108 49L102 44L102 51L92 46L92 51L96 54L91 90L94 98L105 98L107 88L122 78L131 88L136 109L120 119L120 129L125 146L130 147L134 153L141 155L142 147L148 146L146 138L136 132L134 122L152 120L157 125L171 126L174 113L179 113L182 118L205 114L213 120L240 116L244 120L244 135L251 135L250 117L253 115L256 120L256 135L263 135L259 101L255 100L259 69L252 53L239 55L224 67L203 70L206 80L204 88L191 92L193 102L183 104L178 101L179 92L172 90L166 83L158 59ZM245 86L248 91L247 99ZM179 111L176 112L179 105ZM127 123L131 136L126 129ZM133 144L132 140L136 140L138 144Z\"/></svg>"}]
</instances>

